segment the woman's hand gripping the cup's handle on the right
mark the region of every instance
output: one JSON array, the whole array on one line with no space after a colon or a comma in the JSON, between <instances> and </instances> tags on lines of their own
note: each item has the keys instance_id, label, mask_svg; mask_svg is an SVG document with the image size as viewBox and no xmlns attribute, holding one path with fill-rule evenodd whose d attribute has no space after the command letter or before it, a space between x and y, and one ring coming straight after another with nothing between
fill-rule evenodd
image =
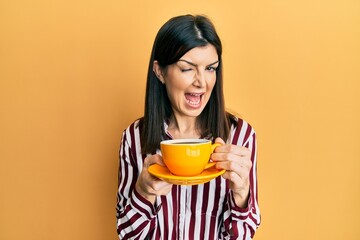
<instances>
[{"instance_id":1,"label":"woman's hand gripping the cup's handle on the right","mask_svg":"<svg viewBox=\"0 0 360 240\"><path fill-rule=\"evenodd\" d=\"M246 147L225 144L221 138L216 138L215 142L222 145L215 148L211 159L216 162L216 168L226 170L222 176L230 181L235 203L245 208L250 190L251 151Z\"/></svg>"}]
</instances>

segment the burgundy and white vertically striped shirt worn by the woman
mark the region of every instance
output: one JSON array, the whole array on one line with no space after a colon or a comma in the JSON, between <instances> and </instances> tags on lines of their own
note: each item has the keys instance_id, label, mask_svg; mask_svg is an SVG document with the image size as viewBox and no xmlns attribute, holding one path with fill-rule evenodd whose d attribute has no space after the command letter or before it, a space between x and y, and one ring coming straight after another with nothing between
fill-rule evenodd
<instances>
[{"instance_id":1,"label":"burgundy and white vertically striped shirt worn by the woman","mask_svg":"<svg viewBox=\"0 0 360 240\"><path fill-rule=\"evenodd\" d=\"M167 124L164 123L165 130ZM170 135L167 137L170 138ZM228 143L251 150L250 197L247 208L235 205L229 181L173 185L155 204L143 198L135 183L146 155L141 153L138 121L124 132L120 146L117 232L120 239L252 239L260 224L257 202L256 137L253 128L237 119ZM157 151L161 154L160 150Z\"/></svg>"}]
</instances>

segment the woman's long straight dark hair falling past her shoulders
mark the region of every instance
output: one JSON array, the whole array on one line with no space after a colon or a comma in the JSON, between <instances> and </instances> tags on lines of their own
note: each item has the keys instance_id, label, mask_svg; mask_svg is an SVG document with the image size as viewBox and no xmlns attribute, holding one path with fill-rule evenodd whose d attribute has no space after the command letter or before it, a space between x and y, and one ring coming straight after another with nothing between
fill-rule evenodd
<instances>
[{"instance_id":1,"label":"woman's long straight dark hair falling past her shoulders","mask_svg":"<svg viewBox=\"0 0 360 240\"><path fill-rule=\"evenodd\" d=\"M211 44L215 47L219 66L216 69L216 82L210 99L196 124L201 130L201 137L221 137L225 141L229 135L232 115L226 113L223 78L222 45L212 22L205 16L183 15L171 18L159 30L151 52L149 62L145 112L140 119L142 152L154 153L165 136L164 121L172 115L172 108L165 85L153 72L153 63L166 71L167 66L176 63L189 50Z\"/></svg>"}]
</instances>

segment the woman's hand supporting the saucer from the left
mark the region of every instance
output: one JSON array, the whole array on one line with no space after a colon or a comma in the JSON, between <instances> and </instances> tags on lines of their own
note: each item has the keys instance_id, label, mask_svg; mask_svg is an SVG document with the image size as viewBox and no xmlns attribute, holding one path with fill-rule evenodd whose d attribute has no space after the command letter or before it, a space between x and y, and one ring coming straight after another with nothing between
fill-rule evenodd
<instances>
[{"instance_id":1,"label":"woman's hand supporting the saucer from the left","mask_svg":"<svg viewBox=\"0 0 360 240\"><path fill-rule=\"evenodd\" d=\"M172 188L172 184L164 182L148 172L149 166L155 163L164 166L162 158L158 154L145 158L143 169L135 185L138 193L152 203L155 202L156 196L166 195Z\"/></svg>"}]
</instances>

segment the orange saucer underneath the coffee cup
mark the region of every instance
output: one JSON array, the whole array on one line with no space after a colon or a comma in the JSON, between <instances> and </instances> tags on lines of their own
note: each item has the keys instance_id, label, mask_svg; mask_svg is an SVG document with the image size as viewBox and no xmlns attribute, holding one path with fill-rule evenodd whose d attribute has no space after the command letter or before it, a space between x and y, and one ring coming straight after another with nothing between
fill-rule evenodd
<instances>
[{"instance_id":1,"label":"orange saucer underneath the coffee cup","mask_svg":"<svg viewBox=\"0 0 360 240\"><path fill-rule=\"evenodd\" d=\"M225 172L225 169L216 169L210 167L205 169L201 174L191 177L176 176L172 174L167 167L159 164L153 164L148 168L150 174L158 177L168 183L176 185L197 185L209 182L210 180L220 176Z\"/></svg>"}]
</instances>

